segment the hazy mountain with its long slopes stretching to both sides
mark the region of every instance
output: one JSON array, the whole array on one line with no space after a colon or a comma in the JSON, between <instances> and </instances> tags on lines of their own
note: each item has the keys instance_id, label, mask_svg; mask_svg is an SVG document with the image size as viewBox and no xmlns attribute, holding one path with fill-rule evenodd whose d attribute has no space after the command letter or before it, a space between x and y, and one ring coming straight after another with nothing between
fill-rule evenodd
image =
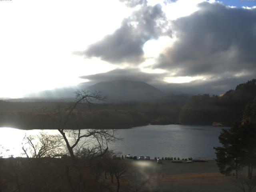
<instances>
[{"instance_id":1,"label":"hazy mountain with its long slopes stretching to both sides","mask_svg":"<svg viewBox=\"0 0 256 192\"><path fill-rule=\"evenodd\" d=\"M72 102L75 99L74 92L78 89L91 92L100 91L102 95L108 96L108 103L178 103L185 104L192 95L167 94L145 82L140 81L109 81L90 85L87 82L78 86L56 88L32 93L24 98L7 99L10 102Z\"/></svg>"}]
</instances>

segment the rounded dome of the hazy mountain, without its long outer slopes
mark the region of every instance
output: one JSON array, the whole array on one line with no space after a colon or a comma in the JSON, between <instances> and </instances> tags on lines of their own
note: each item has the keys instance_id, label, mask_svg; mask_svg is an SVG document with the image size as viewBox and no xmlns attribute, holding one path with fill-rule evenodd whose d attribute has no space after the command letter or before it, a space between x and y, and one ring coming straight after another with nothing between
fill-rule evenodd
<instances>
[{"instance_id":1,"label":"rounded dome of the hazy mountain, without its long outer slopes","mask_svg":"<svg viewBox=\"0 0 256 192\"><path fill-rule=\"evenodd\" d=\"M86 90L99 90L102 95L108 96L108 102L157 101L166 96L154 86L140 81L99 82Z\"/></svg>"}]
</instances>

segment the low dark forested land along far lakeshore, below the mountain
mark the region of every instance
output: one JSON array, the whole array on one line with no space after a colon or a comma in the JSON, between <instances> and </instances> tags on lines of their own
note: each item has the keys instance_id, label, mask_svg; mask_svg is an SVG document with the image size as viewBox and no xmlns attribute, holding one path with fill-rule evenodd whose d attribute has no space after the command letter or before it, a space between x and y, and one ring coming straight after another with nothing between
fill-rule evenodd
<instances>
[{"instance_id":1,"label":"low dark forested land along far lakeshore, below the mountain","mask_svg":"<svg viewBox=\"0 0 256 192\"><path fill-rule=\"evenodd\" d=\"M0 127L20 129L56 129L58 125L44 120L40 113L47 109L58 112L71 102L7 102L0 101ZM92 110L78 105L80 127L122 129L151 124L172 124L178 121L182 103L94 104ZM72 112L69 128L75 128L78 111ZM65 114L62 114L65 116Z\"/></svg>"}]
</instances>

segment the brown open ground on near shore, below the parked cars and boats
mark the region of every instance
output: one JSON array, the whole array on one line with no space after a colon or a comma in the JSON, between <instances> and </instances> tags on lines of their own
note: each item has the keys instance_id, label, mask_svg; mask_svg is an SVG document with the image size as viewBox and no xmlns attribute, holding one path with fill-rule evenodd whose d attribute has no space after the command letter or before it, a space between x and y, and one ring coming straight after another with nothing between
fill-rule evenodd
<instances>
[{"instance_id":1,"label":"brown open ground on near shore, below the parked cars and boats","mask_svg":"<svg viewBox=\"0 0 256 192\"><path fill-rule=\"evenodd\" d=\"M219 173L214 160L194 163L172 163L164 160L130 161L134 172L149 176L144 190L151 192L239 192L231 176ZM143 191L143 190L142 190Z\"/></svg>"}]
</instances>

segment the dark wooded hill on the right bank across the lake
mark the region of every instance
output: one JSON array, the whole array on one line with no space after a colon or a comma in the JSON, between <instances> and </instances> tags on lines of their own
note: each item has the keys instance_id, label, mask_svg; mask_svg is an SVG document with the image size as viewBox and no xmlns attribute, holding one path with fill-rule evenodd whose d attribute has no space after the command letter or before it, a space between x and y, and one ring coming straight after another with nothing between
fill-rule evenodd
<instances>
[{"instance_id":1,"label":"dark wooded hill on the right bank across the lake","mask_svg":"<svg viewBox=\"0 0 256 192\"><path fill-rule=\"evenodd\" d=\"M212 124L220 122L231 125L240 121L246 104L256 96L256 79L239 84L235 90L223 96L208 94L193 96L180 111L182 124Z\"/></svg>"}]
</instances>

